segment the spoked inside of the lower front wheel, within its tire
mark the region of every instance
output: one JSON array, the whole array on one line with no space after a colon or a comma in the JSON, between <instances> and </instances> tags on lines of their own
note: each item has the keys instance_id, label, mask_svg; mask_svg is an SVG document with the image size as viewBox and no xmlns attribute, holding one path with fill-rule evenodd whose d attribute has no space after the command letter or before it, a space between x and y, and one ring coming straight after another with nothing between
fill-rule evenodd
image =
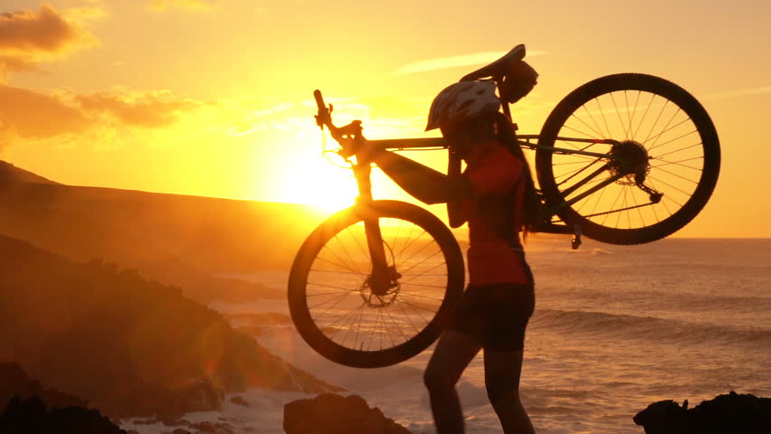
<instances>
[{"instance_id":1,"label":"spoked inside of the lower front wheel, within its tire","mask_svg":"<svg viewBox=\"0 0 771 434\"><path fill-rule=\"evenodd\" d=\"M344 222L329 233L308 272L309 316L324 338L359 353L389 351L424 332L450 284L446 252L424 228L378 219L390 285L374 290L364 223Z\"/></svg>"}]
</instances>

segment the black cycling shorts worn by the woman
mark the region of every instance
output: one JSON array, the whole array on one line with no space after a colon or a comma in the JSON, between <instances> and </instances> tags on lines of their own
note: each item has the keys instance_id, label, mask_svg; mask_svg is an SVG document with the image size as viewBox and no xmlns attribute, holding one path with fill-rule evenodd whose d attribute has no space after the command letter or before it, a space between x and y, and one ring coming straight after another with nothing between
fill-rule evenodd
<instances>
[{"instance_id":1,"label":"black cycling shorts worn by the woman","mask_svg":"<svg viewBox=\"0 0 771 434\"><path fill-rule=\"evenodd\" d=\"M486 350L522 351L535 305L533 285L469 285L447 328L476 337Z\"/></svg>"}]
</instances>

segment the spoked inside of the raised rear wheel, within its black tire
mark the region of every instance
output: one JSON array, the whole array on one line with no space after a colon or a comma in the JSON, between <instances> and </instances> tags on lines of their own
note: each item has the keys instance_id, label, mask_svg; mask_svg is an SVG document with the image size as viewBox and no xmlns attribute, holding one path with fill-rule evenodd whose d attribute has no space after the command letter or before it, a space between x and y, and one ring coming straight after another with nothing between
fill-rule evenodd
<instances>
[{"instance_id":1,"label":"spoked inside of the raised rear wheel, within its black tire","mask_svg":"<svg viewBox=\"0 0 771 434\"><path fill-rule=\"evenodd\" d=\"M588 222L618 230L671 219L689 203L705 171L704 137L692 116L681 104L647 90L614 90L586 98L564 119L555 146L616 156L632 151L632 169L623 175L615 160L553 154L557 192L568 201L613 175L623 175L560 214L569 218L575 212ZM598 143L560 137L597 139ZM608 170L571 189L577 180L608 162ZM642 176L643 188L638 186L637 176Z\"/></svg>"}]
</instances>

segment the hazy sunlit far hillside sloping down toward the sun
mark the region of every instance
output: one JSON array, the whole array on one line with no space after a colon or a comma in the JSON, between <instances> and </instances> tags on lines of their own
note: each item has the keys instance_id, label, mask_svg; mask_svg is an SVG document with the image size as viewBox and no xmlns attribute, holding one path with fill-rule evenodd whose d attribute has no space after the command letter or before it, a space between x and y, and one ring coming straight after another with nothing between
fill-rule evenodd
<instances>
[{"instance_id":1,"label":"hazy sunlit far hillside sloping down toward the sun","mask_svg":"<svg viewBox=\"0 0 771 434\"><path fill-rule=\"evenodd\" d=\"M14 174L0 178L0 234L69 259L139 269L202 302L284 297L283 288L222 276L288 268L325 217L302 205L40 184Z\"/></svg>"}]
</instances>

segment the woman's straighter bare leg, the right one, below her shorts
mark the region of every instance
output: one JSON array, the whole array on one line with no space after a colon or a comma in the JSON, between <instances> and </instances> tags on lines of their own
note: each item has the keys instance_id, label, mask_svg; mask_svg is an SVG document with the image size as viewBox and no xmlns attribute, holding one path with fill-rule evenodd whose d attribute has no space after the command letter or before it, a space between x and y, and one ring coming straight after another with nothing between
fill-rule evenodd
<instances>
[{"instance_id":1,"label":"woman's straighter bare leg, the right one, below her shorts","mask_svg":"<svg viewBox=\"0 0 771 434\"><path fill-rule=\"evenodd\" d=\"M519 401L522 351L484 351L484 381L492 408L505 434L533 434L533 424Z\"/></svg>"}]
</instances>

